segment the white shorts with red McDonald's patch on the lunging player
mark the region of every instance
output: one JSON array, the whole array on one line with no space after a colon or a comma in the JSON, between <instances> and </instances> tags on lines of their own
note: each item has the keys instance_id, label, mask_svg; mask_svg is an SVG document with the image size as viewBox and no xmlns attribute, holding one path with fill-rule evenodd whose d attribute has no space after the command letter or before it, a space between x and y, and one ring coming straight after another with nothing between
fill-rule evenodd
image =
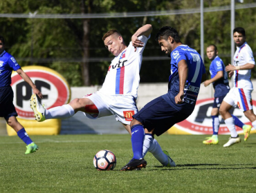
<instances>
[{"instance_id":1,"label":"white shorts with red McDonald's patch on the lunging player","mask_svg":"<svg viewBox=\"0 0 256 193\"><path fill-rule=\"evenodd\" d=\"M93 101L99 110L98 114L84 112L84 115L90 119L98 119L113 114L116 121L130 125L133 119L132 116L138 112L134 96L107 95L102 92L95 92L84 97Z\"/></svg>"}]
</instances>

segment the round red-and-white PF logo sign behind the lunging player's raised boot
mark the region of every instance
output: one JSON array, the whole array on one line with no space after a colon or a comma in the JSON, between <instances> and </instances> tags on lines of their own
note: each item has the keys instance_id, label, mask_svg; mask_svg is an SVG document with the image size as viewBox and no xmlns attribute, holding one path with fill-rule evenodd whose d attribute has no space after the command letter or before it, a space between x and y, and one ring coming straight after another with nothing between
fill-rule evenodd
<instances>
[{"instance_id":1,"label":"round red-and-white PF logo sign behind the lunging player's raised boot","mask_svg":"<svg viewBox=\"0 0 256 193\"><path fill-rule=\"evenodd\" d=\"M46 109L61 106L69 102L71 92L68 83L61 74L42 66L26 66L22 68L43 94L43 99L37 99L46 105ZM12 90L15 93L13 104L22 119L35 119L29 100L33 90L17 72L12 73Z\"/></svg>"}]
</instances>

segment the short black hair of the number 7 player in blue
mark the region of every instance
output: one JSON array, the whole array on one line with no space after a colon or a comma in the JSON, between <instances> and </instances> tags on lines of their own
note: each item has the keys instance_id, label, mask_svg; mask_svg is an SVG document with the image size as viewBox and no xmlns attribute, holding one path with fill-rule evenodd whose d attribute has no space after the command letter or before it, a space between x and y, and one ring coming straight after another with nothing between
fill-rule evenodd
<instances>
[{"instance_id":1,"label":"short black hair of the number 7 player in blue","mask_svg":"<svg viewBox=\"0 0 256 193\"><path fill-rule=\"evenodd\" d=\"M167 41L168 37L170 36L174 39L174 41L176 41L176 43L181 42L181 38L179 37L179 33L177 32L177 30L170 26L164 26L163 28L161 28L156 34L155 40L158 41L161 39L165 39Z\"/></svg>"}]
</instances>

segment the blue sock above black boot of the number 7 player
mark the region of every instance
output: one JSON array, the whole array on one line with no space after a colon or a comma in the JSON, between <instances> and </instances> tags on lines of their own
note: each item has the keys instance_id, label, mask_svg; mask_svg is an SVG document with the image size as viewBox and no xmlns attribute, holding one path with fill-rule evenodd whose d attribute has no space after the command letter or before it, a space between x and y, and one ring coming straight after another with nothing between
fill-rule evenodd
<instances>
[{"instance_id":1,"label":"blue sock above black boot of the number 7 player","mask_svg":"<svg viewBox=\"0 0 256 193\"><path fill-rule=\"evenodd\" d=\"M133 159L143 159L143 141L144 141L143 125L134 125L131 127L131 146L134 152Z\"/></svg>"}]
</instances>

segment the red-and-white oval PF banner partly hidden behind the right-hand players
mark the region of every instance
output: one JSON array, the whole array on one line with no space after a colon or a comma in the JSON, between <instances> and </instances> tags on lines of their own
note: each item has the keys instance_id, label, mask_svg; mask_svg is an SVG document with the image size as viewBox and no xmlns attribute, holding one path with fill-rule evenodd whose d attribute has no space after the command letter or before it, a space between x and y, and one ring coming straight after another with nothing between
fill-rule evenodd
<instances>
[{"instance_id":1,"label":"red-and-white oval PF banner partly hidden behind the right-hand players","mask_svg":"<svg viewBox=\"0 0 256 193\"><path fill-rule=\"evenodd\" d=\"M213 99L203 99L196 101L196 106L192 114L184 121L176 123L175 127L190 134L212 134L212 104ZM256 101L253 101L253 104L253 109L255 112ZM237 116L237 118L244 124L251 124L246 116L244 116L244 113L239 110L239 108L232 108L230 113ZM219 134L230 134L225 122L220 115L219 120ZM237 126L236 129L237 132L242 132L242 129L238 128Z\"/></svg>"}]
</instances>

